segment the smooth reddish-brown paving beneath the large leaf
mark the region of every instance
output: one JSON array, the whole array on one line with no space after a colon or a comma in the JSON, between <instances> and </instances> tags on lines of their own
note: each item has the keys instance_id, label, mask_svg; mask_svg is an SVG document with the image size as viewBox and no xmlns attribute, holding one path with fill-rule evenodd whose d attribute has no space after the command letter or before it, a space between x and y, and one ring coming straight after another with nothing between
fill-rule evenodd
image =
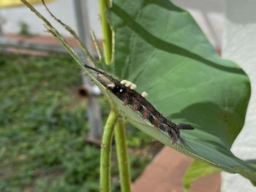
<instances>
[{"instance_id":1,"label":"smooth reddish-brown paving beneath the large leaf","mask_svg":"<svg viewBox=\"0 0 256 192\"><path fill-rule=\"evenodd\" d=\"M133 192L183 192L182 177L192 158L164 147L132 185ZM220 174L210 174L192 183L189 192L219 192Z\"/></svg>"}]
</instances>

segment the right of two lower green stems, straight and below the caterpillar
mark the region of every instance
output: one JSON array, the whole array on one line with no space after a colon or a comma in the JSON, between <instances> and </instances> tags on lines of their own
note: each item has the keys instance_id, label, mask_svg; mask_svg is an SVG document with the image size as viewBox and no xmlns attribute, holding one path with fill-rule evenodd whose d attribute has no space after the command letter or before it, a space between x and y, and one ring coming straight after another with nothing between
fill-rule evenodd
<instances>
[{"instance_id":1,"label":"right of two lower green stems, straight and below the caterpillar","mask_svg":"<svg viewBox=\"0 0 256 192\"><path fill-rule=\"evenodd\" d=\"M125 136L124 119L119 118L114 130L121 191L130 192L131 177L129 174L129 158L127 153L127 141Z\"/></svg>"}]
</instances>

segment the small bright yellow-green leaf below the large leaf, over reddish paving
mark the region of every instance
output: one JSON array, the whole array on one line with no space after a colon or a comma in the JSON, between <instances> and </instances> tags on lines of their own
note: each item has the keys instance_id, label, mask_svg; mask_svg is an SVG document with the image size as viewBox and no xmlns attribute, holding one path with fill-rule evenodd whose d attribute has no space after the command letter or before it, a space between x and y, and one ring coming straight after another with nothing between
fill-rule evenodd
<instances>
[{"instance_id":1,"label":"small bright yellow-green leaf below the large leaf, over reddish paving","mask_svg":"<svg viewBox=\"0 0 256 192\"><path fill-rule=\"evenodd\" d=\"M185 191L188 191L190 185L200 177L206 176L214 172L221 172L221 169L217 169L214 166L209 166L202 161L195 160L189 166L183 177L183 186Z\"/></svg>"}]
</instances>

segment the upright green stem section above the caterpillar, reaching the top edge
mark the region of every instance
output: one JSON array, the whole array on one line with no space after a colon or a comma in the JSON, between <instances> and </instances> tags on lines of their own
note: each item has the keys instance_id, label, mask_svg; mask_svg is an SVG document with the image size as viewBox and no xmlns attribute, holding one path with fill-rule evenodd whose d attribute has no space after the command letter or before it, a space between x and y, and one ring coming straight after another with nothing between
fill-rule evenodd
<instances>
[{"instance_id":1,"label":"upright green stem section above the caterpillar, reaching the top edge","mask_svg":"<svg viewBox=\"0 0 256 192\"><path fill-rule=\"evenodd\" d=\"M99 15L102 23L102 36L105 63L108 65L111 62L112 55L112 31L105 16L106 8L110 8L110 0L99 0Z\"/></svg>"}]
</instances>

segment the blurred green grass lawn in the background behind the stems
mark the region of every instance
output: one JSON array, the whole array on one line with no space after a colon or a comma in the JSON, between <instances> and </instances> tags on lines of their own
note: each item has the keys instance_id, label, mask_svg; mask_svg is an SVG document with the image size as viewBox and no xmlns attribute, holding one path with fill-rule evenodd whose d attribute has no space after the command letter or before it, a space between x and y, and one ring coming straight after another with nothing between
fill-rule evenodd
<instances>
[{"instance_id":1,"label":"blurred green grass lawn in the background behind the stems","mask_svg":"<svg viewBox=\"0 0 256 192\"><path fill-rule=\"evenodd\" d=\"M86 143L81 83L80 69L64 55L0 53L0 191L99 190L99 147ZM99 100L105 120L109 107ZM127 137L135 180L161 146L131 126ZM112 170L119 191L116 163Z\"/></svg>"}]
</instances>

